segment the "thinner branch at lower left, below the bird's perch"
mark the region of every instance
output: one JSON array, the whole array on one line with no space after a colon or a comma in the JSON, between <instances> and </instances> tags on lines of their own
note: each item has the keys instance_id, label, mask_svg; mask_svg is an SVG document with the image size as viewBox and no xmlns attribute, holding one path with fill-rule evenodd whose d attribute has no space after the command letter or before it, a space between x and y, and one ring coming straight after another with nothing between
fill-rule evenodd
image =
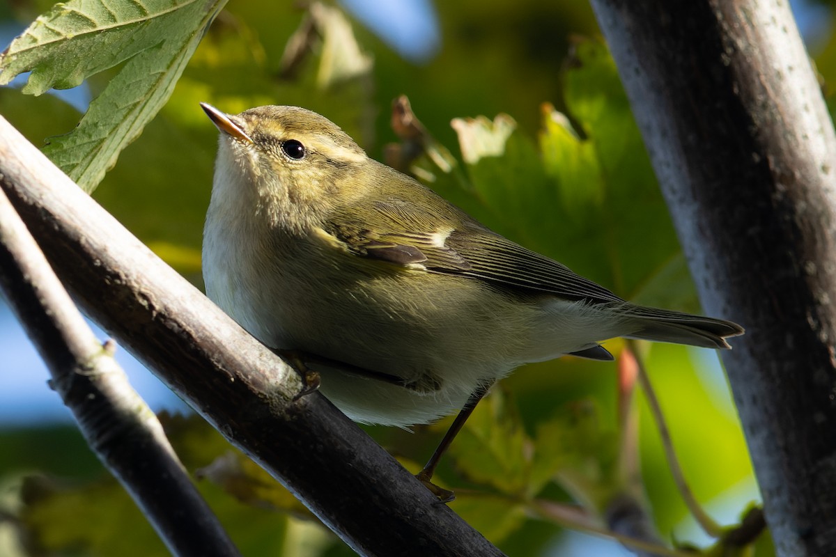
<instances>
[{"instance_id":1,"label":"thinner branch at lower left, below the bird's perch","mask_svg":"<svg viewBox=\"0 0 836 557\"><path fill-rule=\"evenodd\" d=\"M0 287L47 362L90 448L173 554L238 555L191 483L162 425L99 345L8 197L0 191Z\"/></svg>"}]
</instances>

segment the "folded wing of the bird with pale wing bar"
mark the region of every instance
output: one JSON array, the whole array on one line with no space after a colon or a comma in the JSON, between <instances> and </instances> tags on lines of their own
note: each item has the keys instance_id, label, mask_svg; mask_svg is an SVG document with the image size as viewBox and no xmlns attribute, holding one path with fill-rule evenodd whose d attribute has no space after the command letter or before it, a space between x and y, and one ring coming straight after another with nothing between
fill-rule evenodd
<instances>
[{"instance_id":1,"label":"folded wing of the bird with pale wing bar","mask_svg":"<svg viewBox=\"0 0 836 557\"><path fill-rule=\"evenodd\" d=\"M444 228L442 220L404 212L403 206L392 209L380 202L376 205L389 211L383 215L397 210L396 219L383 220L390 225L389 230L364 230L361 225L334 225L328 230L356 256L568 299L599 303L623 301L567 266L475 222L466 221L462 225L465 230L450 230ZM394 231L405 225L414 230Z\"/></svg>"}]
</instances>

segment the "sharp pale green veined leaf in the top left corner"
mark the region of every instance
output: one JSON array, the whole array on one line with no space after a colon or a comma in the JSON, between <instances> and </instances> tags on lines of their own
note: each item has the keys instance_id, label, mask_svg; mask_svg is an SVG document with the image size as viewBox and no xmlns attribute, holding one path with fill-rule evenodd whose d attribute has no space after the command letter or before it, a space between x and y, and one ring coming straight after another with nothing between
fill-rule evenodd
<instances>
[{"instance_id":1,"label":"sharp pale green veined leaf in the top left corner","mask_svg":"<svg viewBox=\"0 0 836 557\"><path fill-rule=\"evenodd\" d=\"M226 0L56 4L0 58L0 83L31 71L24 93L74 87L125 62L73 132L44 151L92 191L161 109L209 24Z\"/></svg>"}]
</instances>

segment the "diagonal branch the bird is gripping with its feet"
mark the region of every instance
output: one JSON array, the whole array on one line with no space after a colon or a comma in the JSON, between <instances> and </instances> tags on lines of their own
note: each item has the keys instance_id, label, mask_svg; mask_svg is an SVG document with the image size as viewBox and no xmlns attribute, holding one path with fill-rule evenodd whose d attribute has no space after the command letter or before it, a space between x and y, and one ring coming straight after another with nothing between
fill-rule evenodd
<instances>
[{"instance_id":1,"label":"diagonal branch the bird is gripping with its feet","mask_svg":"<svg viewBox=\"0 0 836 557\"><path fill-rule=\"evenodd\" d=\"M4 119L0 174L84 311L354 550L502 554Z\"/></svg>"}]
</instances>

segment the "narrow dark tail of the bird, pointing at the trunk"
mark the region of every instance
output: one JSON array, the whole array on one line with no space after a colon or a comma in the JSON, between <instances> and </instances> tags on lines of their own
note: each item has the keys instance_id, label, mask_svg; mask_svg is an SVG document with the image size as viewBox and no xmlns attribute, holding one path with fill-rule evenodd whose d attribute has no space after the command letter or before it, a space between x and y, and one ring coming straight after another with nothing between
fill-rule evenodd
<instances>
[{"instance_id":1,"label":"narrow dark tail of the bird, pointing at the trunk","mask_svg":"<svg viewBox=\"0 0 836 557\"><path fill-rule=\"evenodd\" d=\"M670 311L655 307L627 304L619 308L624 316L635 317L639 328L627 338L655 342L675 342L694 347L731 348L727 337L743 334L743 327L737 323L696 316L682 311Z\"/></svg>"}]
</instances>

